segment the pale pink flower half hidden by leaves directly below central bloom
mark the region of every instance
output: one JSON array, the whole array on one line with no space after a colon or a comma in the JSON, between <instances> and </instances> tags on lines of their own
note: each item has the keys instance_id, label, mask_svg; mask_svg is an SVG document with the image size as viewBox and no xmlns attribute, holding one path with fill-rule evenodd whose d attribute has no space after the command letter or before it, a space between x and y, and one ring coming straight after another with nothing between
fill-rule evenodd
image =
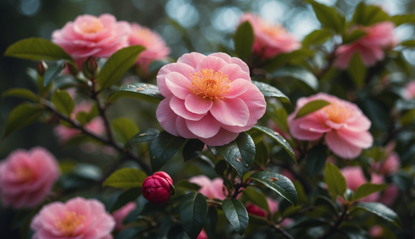
<instances>
[{"instance_id":1,"label":"pale pink flower half hidden by leaves directly below central bloom","mask_svg":"<svg viewBox=\"0 0 415 239\"><path fill-rule=\"evenodd\" d=\"M198 175L189 178L190 183L195 183L199 185L201 188L199 189L199 193L203 194L206 198L210 200L219 199L224 200L226 195L223 192L223 179L222 178L214 178L210 180L205 175Z\"/></svg>"}]
</instances>

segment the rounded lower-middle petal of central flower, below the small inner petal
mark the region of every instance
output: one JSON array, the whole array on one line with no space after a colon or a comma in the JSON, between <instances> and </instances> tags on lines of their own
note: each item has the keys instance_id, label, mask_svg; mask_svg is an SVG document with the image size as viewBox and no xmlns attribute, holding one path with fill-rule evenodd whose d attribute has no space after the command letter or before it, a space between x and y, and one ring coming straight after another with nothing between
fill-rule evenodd
<instances>
[{"instance_id":1,"label":"rounded lower-middle petal of central flower, below the small inner petal","mask_svg":"<svg viewBox=\"0 0 415 239\"><path fill-rule=\"evenodd\" d=\"M196 136L210 138L219 132L221 124L212 116L212 114L210 114L210 112L207 112L207 115L201 120L186 120L186 125Z\"/></svg>"}]
</instances>

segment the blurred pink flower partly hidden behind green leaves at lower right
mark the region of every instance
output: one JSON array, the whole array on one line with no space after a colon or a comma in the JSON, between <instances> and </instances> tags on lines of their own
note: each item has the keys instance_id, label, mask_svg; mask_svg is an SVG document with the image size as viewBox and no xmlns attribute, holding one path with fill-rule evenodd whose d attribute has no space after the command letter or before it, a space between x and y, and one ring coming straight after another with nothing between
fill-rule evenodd
<instances>
[{"instance_id":1,"label":"blurred pink flower partly hidden behind green leaves at lower right","mask_svg":"<svg viewBox=\"0 0 415 239\"><path fill-rule=\"evenodd\" d=\"M351 190L356 190L359 188L360 185L367 183L366 177L359 166L347 166L340 170L346 178L347 188ZM376 173L371 174L371 183L379 184L383 183L383 177L379 176ZM380 193L372 193L365 198L361 198L359 201L361 202L376 202L380 198Z\"/></svg>"}]
</instances>

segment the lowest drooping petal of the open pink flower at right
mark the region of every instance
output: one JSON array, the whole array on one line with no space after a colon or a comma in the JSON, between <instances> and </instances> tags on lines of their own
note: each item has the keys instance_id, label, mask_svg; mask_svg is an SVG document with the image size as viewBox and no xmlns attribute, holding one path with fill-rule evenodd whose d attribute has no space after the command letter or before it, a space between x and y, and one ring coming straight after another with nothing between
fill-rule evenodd
<instances>
[{"instance_id":1,"label":"lowest drooping petal of the open pink flower at right","mask_svg":"<svg viewBox=\"0 0 415 239\"><path fill-rule=\"evenodd\" d=\"M342 137L339 137L336 130L326 133L325 141L334 154L344 159L354 159L361 153L361 148L349 144Z\"/></svg>"}]
</instances>

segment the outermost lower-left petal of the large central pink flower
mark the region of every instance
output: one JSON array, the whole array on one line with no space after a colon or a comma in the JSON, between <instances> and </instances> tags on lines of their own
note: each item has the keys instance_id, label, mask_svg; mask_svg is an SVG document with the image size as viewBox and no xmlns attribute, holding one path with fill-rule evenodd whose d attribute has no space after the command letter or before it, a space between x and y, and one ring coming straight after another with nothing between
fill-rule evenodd
<instances>
[{"instance_id":1,"label":"outermost lower-left petal of the large central pink flower","mask_svg":"<svg viewBox=\"0 0 415 239\"><path fill-rule=\"evenodd\" d=\"M175 136L180 136L176 128L177 115L170 108L170 100L171 98L161 100L156 110L156 118L164 130Z\"/></svg>"}]
</instances>

